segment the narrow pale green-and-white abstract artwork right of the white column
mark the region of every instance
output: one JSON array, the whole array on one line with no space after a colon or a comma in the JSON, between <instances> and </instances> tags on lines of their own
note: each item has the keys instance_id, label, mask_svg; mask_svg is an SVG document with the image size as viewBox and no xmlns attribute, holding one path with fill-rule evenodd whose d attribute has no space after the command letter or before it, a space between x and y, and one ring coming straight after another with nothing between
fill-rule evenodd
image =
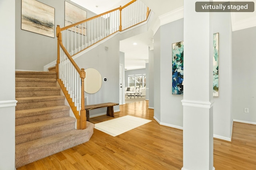
<instances>
[{"instance_id":1,"label":"narrow pale green-and-white abstract artwork right of the white column","mask_svg":"<svg viewBox=\"0 0 256 170\"><path fill-rule=\"evenodd\" d=\"M213 96L219 96L219 33L213 35Z\"/></svg>"}]
</instances>

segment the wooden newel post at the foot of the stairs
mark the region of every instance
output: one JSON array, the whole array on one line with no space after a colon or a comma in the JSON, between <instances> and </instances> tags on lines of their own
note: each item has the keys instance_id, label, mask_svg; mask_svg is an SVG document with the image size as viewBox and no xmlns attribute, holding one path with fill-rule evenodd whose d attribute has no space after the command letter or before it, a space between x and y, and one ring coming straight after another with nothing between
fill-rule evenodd
<instances>
[{"instance_id":1,"label":"wooden newel post at the foot of the stairs","mask_svg":"<svg viewBox=\"0 0 256 170\"><path fill-rule=\"evenodd\" d=\"M81 110L80 110L80 129L86 129L86 110L84 108L84 78L85 78L85 71L84 68L81 69L80 78L82 80L81 83Z\"/></svg>"}]
</instances>

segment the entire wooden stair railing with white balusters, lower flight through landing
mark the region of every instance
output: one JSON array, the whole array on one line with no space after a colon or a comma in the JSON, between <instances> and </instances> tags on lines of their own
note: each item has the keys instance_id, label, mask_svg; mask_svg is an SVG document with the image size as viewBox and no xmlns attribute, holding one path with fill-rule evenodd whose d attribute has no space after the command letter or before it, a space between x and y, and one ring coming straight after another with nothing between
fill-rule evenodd
<instances>
[{"instance_id":1,"label":"entire wooden stair railing with white balusters, lower flight through landing","mask_svg":"<svg viewBox=\"0 0 256 170\"><path fill-rule=\"evenodd\" d=\"M72 56L106 37L137 25L148 18L149 9L140 0L132 0L123 7L60 28L58 37L57 78L77 119L77 129L86 128L84 109L84 68L80 69Z\"/></svg>"}]
</instances>

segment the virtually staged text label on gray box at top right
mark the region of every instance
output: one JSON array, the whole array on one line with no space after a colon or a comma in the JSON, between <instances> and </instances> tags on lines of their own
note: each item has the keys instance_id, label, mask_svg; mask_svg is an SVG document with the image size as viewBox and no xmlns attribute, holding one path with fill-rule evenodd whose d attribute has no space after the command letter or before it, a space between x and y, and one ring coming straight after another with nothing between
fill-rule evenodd
<instances>
[{"instance_id":1,"label":"virtually staged text label on gray box at top right","mask_svg":"<svg viewBox=\"0 0 256 170\"><path fill-rule=\"evenodd\" d=\"M196 2L196 12L254 12L254 2Z\"/></svg>"}]
</instances>

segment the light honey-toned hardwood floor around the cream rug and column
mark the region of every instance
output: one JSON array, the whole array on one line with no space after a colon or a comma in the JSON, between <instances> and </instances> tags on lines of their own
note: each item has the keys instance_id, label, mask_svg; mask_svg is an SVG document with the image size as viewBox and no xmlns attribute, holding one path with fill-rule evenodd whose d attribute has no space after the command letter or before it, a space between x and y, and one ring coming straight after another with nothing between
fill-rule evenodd
<instances>
[{"instance_id":1,"label":"light honey-toned hardwood floor around the cream rug and column","mask_svg":"<svg viewBox=\"0 0 256 170\"><path fill-rule=\"evenodd\" d=\"M94 129L87 143L64 150L17 170L180 170L182 130L159 125L148 101L120 106L116 117L132 115L152 120L112 137ZM100 116L92 123L113 119ZM232 143L214 139L216 170L256 170L256 125L234 122Z\"/></svg>"}]
</instances>

